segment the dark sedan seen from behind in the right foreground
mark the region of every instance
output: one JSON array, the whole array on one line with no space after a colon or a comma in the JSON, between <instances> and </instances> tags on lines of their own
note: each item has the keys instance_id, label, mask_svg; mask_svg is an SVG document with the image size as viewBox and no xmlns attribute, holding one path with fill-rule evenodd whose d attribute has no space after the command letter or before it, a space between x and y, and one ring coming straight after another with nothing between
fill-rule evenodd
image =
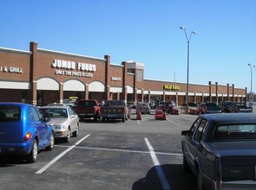
<instances>
[{"instance_id":1,"label":"dark sedan seen from behind in the right foreground","mask_svg":"<svg viewBox=\"0 0 256 190\"><path fill-rule=\"evenodd\" d=\"M181 135L198 189L256 189L256 114L200 115Z\"/></svg>"}]
</instances>

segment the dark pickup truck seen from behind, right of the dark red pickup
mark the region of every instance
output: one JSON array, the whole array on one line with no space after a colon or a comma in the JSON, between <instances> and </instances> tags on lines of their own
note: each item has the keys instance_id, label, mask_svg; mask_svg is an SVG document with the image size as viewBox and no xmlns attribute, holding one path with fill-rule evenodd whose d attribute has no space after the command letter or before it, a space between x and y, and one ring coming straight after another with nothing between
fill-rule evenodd
<instances>
[{"instance_id":1,"label":"dark pickup truck seen from behind, right of the dark red pickup","mask_svg":"<svg viewBox=\"0 0 256 190\"><path fill-rule=\"evenodd\" d=\"M125 122L130 117L130 112L124 100L107 100L101 107L102 121L106 119L121 119Z\"/></svg>"}]
</instances>

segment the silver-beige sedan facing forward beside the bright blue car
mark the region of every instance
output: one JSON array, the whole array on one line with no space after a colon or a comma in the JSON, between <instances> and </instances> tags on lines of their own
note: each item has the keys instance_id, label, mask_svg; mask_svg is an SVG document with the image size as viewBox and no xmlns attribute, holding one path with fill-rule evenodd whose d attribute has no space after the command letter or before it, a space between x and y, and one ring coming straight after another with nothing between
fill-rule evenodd
<instances>
[{"instance_id":1,"label":"silver-beige sedan facing forward beside the bright blue car","mask_svg":"<svg viewBox=\"0 0 256 190\"><path fill-rule=\"evenodd\" d=\"M49 117L49 125L53 127L54 136L69 142L70 136L77 136L79 131L79 118L75 111L67 105L49 105L39 108L44 117Z\"/></svg>"}]
</instances>

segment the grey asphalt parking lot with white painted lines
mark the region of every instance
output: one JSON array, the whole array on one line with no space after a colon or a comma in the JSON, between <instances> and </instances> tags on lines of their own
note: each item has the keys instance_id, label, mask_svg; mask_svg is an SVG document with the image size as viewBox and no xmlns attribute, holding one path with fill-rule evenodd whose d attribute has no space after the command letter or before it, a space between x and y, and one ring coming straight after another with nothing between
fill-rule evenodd
<instances>
[{"instance_id":1,"label":"grey asphalt parking lot with white painted lines","mask_svg":"<svg viewBox=\"0 0 256 190\"><path fill-rule=\"evenodd\" d=\"M196 189L196 180L182 169L181 130L196 116L154 113L127 122L81 122L77 137L41 151L37 161L0 161L1 189Z\"/></svg>"}]
</instances>

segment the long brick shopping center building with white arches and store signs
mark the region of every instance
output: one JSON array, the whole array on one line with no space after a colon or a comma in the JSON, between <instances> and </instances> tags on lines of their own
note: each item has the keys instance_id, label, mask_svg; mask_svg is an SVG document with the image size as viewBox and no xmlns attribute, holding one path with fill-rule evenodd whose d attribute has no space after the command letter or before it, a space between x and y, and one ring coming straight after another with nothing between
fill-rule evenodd
<instances>
[{"instance_id":1,"label":"long brick shopping center building with white arches and store signs","mask_svg":"<svg viewBox=\"0 0 256 190\"><path fill-rule=\"evenodd\" d=\"M0 48L0 101L30 104L62 103L70 97L125 99L128 102L186 102L187 84L144 79L145 65L134 60L112 64L103 58L38 48ZM234 84L189 84L188 102L246 102L246 88Z\"/></svg>"}]
</instances>

